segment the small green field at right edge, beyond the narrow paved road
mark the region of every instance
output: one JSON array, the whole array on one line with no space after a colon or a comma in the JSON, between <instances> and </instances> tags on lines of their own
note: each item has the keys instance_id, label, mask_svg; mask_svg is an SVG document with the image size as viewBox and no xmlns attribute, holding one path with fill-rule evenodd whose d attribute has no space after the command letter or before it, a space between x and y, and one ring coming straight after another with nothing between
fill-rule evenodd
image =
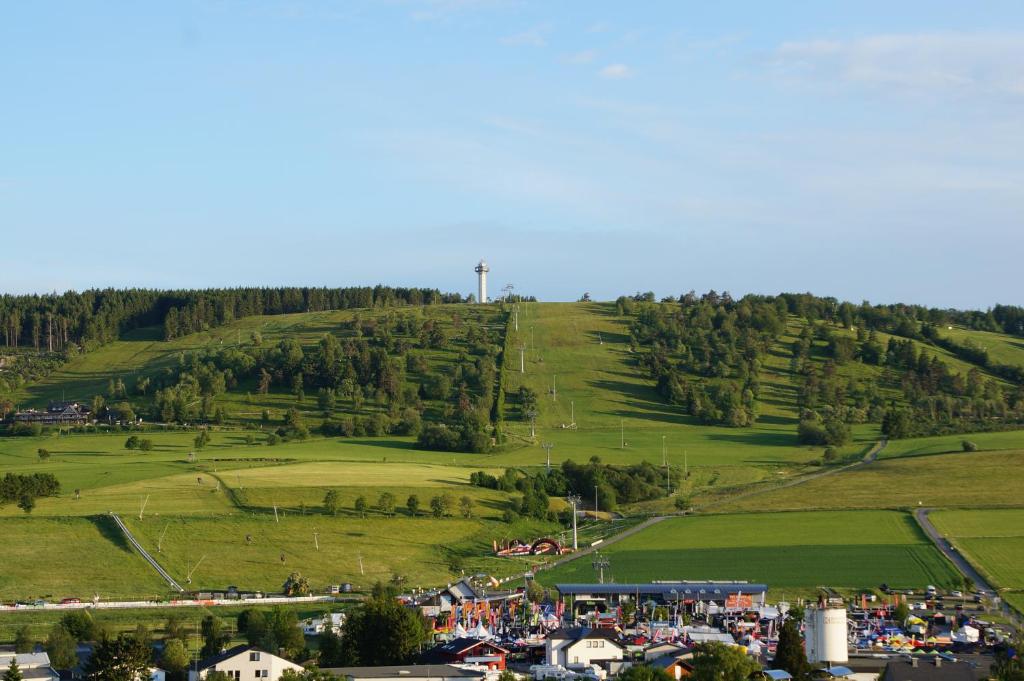
<instances>
[{"instance_id":1,"label":"small green field at right edge, beyond the narrow paved road","mask_svg":"<svg viewBox=\"0 0 1024 681\"><path fill-rule=\"evenodd\" d=\"M1024 589L1024 509L935 511L936 528L997 589Z\"/></svg>"}]
</instances>

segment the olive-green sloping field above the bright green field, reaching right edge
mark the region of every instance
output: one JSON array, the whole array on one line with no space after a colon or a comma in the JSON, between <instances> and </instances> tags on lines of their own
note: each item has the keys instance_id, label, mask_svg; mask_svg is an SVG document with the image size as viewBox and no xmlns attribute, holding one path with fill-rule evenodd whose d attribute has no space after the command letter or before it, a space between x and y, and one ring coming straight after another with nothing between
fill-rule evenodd
<instances>
[{"instance_id":1,"label":"olive-green sloping field above the bright green field, reaching right edge","mask_svg":"<svg viewBox=\"0 0 1024 681\"><path fill-rule=\"evenodd\" d=\"M1022 465L1022 451L886 459L805 484L726 502L715 510L1020 506L1024 504Z\"/></svg>"}]
</instances>

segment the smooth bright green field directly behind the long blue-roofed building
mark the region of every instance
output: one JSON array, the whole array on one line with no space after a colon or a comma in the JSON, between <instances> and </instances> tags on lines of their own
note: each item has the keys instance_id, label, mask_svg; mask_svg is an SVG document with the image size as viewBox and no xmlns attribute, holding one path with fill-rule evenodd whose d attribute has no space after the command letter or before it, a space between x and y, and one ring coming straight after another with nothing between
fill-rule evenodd
<instances>
[{"instance_id":1,"label":"smooth bright green field directly behind the long blue-roofed building","mask_svg":"<svg viewBox=\"0 0 1024 681\"><path fill-rule=\"evenodd\" d=\"M745 580L779 590L952 584L953 568L906 513L735 514L672 518L601 552L616 582ZM593 582L589 557L542 572ZM607 579L607 572L606 572Z\"/></svg>"}]
</instances>

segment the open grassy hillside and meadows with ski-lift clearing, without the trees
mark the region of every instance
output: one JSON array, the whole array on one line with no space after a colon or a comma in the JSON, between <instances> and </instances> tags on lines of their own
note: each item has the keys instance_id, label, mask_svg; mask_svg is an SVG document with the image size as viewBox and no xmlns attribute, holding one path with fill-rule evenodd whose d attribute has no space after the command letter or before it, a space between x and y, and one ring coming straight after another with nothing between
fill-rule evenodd
<instances>
[{"instance_id":1,"label":"open grassy hillside and meadows with ski-lift clearing, without the trees","mask_svg":"<svg viewBox=\"0 0 1024 681\"><path fill-rule=\"evenodd\" d=\"M183 580L195 568L197 588L237 584L272 590L293 569L314 586L341 581L368 586L393 574L426 586L450 581L463 570L521 572L528 562L490 557L492 542L535 539L563 528L557 523L503 522L504 511L518 493L472 486L469 476L477 470L498 474L506 467L536 470L545 465L542 442L553 445L555 465L595 456L610 464L646 460L660 465L664 457L681 473L672 496L621 509L626 514L672 513L680 496L699 505L826 469L812 465L822 457L823 446L797 441L800 381L792 346L806 324L802 318L786 316L760 363L757 421L727 427L703 425L683 407L667 402L638 361L643 349L631 347L631 317L617 313L613 304L522 303L517 314L518 330L513 316L507 337L508 317L494 305L255 316L169 342L160 340L155 329L136 331L75 357L45 379L24 386L19 401L44 406L60 397L90 399L105 393L111 379L119 378L131 391L139 377L155 382L166 378L183 355L250 347L253 334L259 334L267 348L295 340L312 356L326 333L342 341L367 338L364 323L385 326L385 317L415 315L419 323L432 322L447 342L424 346L415 334L401 331L389 331L387 340L379 340L382 347L404 343L422 355L425 364L402 373L401 388L422 399L425 418L436 421L446 418L445 406L453 406L456 386L442 399L422 396L420 385L439 374L454 378L469 367L480 356L474 355L478 347L470 329L483 329L505 348L501 381L507 442L485 455L426 452L417 449L414 437L394 434L314 435L269 446L264 444L265 431L281 424L287 409L299 409L311 426L323 419L314 387L306 389L300 402L287 381L278 378L267 394L258 393L253 379L219 393L214 403L226 410L227 421L211 430L210 443L198 452L196 431L177 427L140 433L154 441L151 452L125 450L127 432L0 438L0 471L53 473L62 487L59 497L38 500L28 517L13 505L0 507L0 530L15 538L19 547L16 554L0 553L0 597L161 592L156 576L105 529L103 516L110 511L121 514L144 545L160 545L160 560L172 574ZM372 328L369 333L374 333ZM1015 341L1001 342L1008 354L1000 361L1010 361ZM930 347L929 352L955 371L970 369L943 350ZM815 339L809 361L820 369L828 357L826 342ZM898 382L884 368L854 360L836 371L844 380L877 387L887 400L902 399ZM517 397L523 386L538 397L535 434ZM153 393L131 394L129 399L145 410ZM403 403L415 401L409 399ZM389 408L375 394L367 394L360 405L339 398L335 418L381 414ZM262 423L264 410L271 411L271 423ZM852 441L840 449L840 459L862 457L881 436L878 424L871 423L853 425L852 434ZM247 436L255 443L247 443ZM959 453L963 439L976 442L981 451ZM50 453L45 461L37 455L40 448ZM193 452L195 457L189 456ZM925 456L936 454L943 456ZM1024 431L894 440L883 460L869 466L714 507L735 515L673 519L612 545L612 574L618 581L748 579L805 591L819 584L944 584L948 566L907 524L907 516L870 509L905 509L919 502L965 509L1021 506L1021 464ZM323 511L329 490L339 495L337 516ZM394 517L375 508L382 493L394 497ZM451 516L430 517L430 499L445 494L456 501ZM415 517L406 509L412 495L421 503ZM370 506L366 517L355 511L359 497ZM462 517L462 497L471 500L472 517ZM562 505L552 500L552 508ZM763 513L808 509L844 512ZM846 512L850 509L858 510ZM605 536L611 527L590 530L588 540ZM967 538L975 539L984 540ZM1011 539L1016 541L1016 536ZM74 547L82 560L54 561L52 546ZM110 577L110 566L117 578ZM590 580L592 572L585 559L545 574L543 581Z\"/></svg>"}]
</instances>

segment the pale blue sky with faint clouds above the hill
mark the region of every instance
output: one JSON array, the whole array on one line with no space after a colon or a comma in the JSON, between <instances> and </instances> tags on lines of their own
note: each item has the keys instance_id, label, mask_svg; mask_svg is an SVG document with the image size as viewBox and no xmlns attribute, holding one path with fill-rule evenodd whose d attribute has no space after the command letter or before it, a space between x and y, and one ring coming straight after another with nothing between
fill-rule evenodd
<instances>
[{"instance_id":1,"label":"pale blue sky with faint clouds above the hill","mask_svg":"<svg viewBox=\"0 0 1024 681\"><path fill-rule=\"evenodd\" d=\"M0 5L0 292L985 308L1022 187L1019 0Z\"/></svg>"}]
</instances>

